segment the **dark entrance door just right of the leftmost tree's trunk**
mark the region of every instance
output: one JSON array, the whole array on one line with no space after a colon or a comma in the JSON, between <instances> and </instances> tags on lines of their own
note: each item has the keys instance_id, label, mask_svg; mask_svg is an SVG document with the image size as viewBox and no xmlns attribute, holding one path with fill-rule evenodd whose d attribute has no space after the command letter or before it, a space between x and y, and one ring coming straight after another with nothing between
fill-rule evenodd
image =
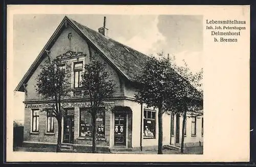
<instances>
[{"instance_id":1,"label":"dark entrance door just right of the leftmost tree's trunk","mask_svg":"<svg viewBox=\"0 0 256 167\"><path fill-rule=\"evenodd\" d=\"M64 143L74 143L74 115L66 115L64 118Z\"/></svg>"}]
</instances>

